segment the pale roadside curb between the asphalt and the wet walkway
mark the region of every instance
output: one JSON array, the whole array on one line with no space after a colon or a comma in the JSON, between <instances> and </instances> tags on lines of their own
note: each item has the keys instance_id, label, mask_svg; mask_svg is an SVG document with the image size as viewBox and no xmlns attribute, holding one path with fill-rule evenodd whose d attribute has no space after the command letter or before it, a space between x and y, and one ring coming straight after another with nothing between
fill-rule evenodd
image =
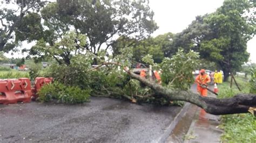
<instances>
[{"instance_id":1,"label":"pale roadside curb between the asphalt and the wet walkway","mask_svg":"<svg viewBox=\"0 0 256 143\"><path fill-rule=\"evenodd\" d=\"M156 140L156 142L165 142L167 138L172 133L172 130L175 128L175 126L178 124L179 120L185 115L186 111L188 110L188 107L191 103L186 102L183 108L179 111L179 113L176 115L176 117L173 119L172 123L165 128L165 132L161 134L161 137Z\"/></svg>"}]
</instances>

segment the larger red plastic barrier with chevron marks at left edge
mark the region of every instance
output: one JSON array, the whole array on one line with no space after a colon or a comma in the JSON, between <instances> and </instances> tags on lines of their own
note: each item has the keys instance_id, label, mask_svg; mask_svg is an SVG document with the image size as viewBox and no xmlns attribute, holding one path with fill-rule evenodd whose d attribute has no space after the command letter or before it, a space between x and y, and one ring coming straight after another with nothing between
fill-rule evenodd
<instances>
[{"instance_id":1,"label":"larger red plastic barrier with chevron marks at left edge","mask_svg":"<svg viewBox=\"0 0 256 143\"><path fill-rule=\"evenodd\" d=\"M29 78L0 80L0 104L13 104L31 101Z\"/></svg>"}]
</instances>

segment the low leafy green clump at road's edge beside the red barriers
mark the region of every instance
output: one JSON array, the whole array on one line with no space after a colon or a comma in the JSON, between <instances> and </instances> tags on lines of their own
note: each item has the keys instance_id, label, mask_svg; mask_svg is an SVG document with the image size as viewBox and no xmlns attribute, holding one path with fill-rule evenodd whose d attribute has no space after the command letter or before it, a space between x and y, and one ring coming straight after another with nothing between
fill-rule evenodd
<instances>
[{"instance_id":1,"label":"low leafy green clump at road's edge beside the red barriers","mask_svg":"<svg viewBox=\"0 0 256 143\"><path fill-rule=\"evenodd\" d=\"M79 87L65 86L54 82L44 85L38 92L39 101L57 103L84 103L89 101L90 90L82 90Z\"/></svg>"}]
</instances>

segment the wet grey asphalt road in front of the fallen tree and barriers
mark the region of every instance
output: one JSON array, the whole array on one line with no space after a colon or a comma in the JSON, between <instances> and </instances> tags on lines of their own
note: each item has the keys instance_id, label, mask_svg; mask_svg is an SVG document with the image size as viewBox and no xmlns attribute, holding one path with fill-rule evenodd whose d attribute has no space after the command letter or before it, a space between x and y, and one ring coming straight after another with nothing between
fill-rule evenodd
<instances>
[{"instance_id":1,"label":"wet grey asphalt road in front of the fallen tree and barriers","mask_svg":"<svg viewBox=\"0 0 256 143\"><path fill-rule=\"evenodd\" d=\"M83 105L0 105L0 142L157 142L180 110L96 97Z\"/></svg>"}]
</instances>

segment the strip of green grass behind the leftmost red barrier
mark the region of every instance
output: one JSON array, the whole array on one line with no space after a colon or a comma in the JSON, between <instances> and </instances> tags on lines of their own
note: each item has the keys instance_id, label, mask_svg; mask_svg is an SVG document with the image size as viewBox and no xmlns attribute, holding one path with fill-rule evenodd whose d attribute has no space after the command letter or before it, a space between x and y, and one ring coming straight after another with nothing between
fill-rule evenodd
<instances>
[{"instance_id":1,"label":"strip of green grass behind the leftmost red barrier","mask_svg":"<svg viewBox=\"0 0 256 143\"><path fill-rule=\"evenodd\" d=\"M10 70L10 71L0 71L0 78L21 78L28 77L29 73L26 71Z\"/></svg>"}]
</instances>

